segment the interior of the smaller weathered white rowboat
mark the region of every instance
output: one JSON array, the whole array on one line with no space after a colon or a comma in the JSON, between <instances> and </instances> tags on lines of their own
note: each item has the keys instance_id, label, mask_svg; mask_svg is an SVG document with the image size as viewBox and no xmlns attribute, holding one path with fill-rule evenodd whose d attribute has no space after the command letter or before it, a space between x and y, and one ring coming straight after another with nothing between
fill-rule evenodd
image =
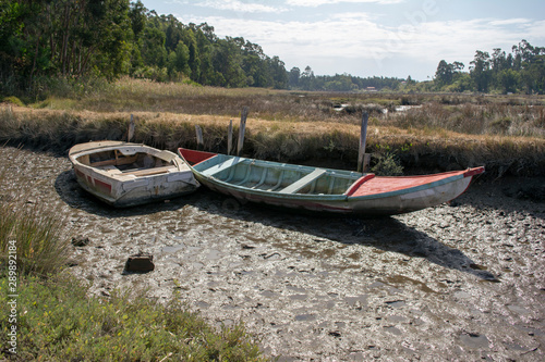
<instances>
[{"instance_id":1,"label":"interior of the smaller weathered white rowboat","mask_svg":"<svg viewBox=\"0 0 545 362\"><path fill-rule=\"evenodd\" d=\"M173 157L159 158L147 152L123 153L118 149L87 153L77 157L77 161L111 175L148 176L175 170Z\"/></svg>"}]
</instances>

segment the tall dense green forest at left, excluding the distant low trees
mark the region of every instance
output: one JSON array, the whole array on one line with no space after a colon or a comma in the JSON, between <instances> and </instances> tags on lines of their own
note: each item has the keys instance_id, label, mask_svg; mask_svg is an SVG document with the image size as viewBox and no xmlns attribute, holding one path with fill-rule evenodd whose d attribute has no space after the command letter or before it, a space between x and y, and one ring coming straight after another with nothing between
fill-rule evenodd
<instances>
[{"instance_id":1,"label":"tall dense green forest at left, excluding the distant low trees","mask_svg":"<svg viewBox=\"0 0 545 362\"><path fill-rule=\"evenodd\" d=\"M120 76L221 87L287 88L278 57L214 27L184 25L138 0L2 0L0 92L28 92L50 78Z\"/></svg>"}]
</instances>

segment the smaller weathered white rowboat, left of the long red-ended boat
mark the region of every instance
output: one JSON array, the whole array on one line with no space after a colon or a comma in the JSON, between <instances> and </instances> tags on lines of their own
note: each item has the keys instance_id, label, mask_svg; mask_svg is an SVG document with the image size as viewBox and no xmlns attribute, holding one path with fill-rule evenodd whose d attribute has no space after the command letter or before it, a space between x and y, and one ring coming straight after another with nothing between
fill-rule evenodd
<instances>
[{"instance_id":1,"label":"smaller weathered white rowboat, left of the long red-ended boat","mask_svg":"<svg viewBox=\"0 0 545 362\"><path fill-rule=\"evenodd\" d=\"M175 153L145 145L94 141L72 147L77 183L113 207L131 207L193 192L199 186Z\"/></svg>"}]
</instances>

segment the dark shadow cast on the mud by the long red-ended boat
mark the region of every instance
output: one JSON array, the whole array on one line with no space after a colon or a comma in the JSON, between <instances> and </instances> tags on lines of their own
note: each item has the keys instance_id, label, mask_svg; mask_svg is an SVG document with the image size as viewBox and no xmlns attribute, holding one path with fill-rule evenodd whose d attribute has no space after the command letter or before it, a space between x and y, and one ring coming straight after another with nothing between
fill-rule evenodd
<instances>
[{"instance_id":1,"label":"dark shadow cast on the mud by the long red-ended boat","mask_svg":"<svg viewBox=\"0 0 545 362\"><path fill-rule=\"evenodd\" d=\"M408 258L423 258L441 267L458 270L482 280L499 282L459 249L451 248L395 217L362 219L316 213L301 214L250 202L241 204L234 198L207 189L198 192L202 197L192 204L219 216L304 233L314 236L317 242L329 239L343 245L375 248L379 252L389 251ZM274 240L268 241L274 242ZM289 247L287 250L292 252L293 248ZM320 258L313 250L303 253Z\"/></svg>"}]
</instances>

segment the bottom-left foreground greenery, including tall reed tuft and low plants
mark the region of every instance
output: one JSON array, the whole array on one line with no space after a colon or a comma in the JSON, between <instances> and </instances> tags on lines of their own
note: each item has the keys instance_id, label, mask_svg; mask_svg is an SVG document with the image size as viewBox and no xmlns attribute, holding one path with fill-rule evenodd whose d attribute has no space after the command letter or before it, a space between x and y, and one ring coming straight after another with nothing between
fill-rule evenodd
<instances>
[{"instance_id":1,"label":"bottom-left foreground greenery, including tall reed tuft and low plants","mask_svg":"<svg viewBox=\"0 0 545 362\"><path fill-rule=\"evenodd\" d=\"M123 291L89 297L65 270L63 222L19 200L0 198L1 360L264 360L242 325L218 330L175 295L166 305Z\"/></svg>"}]
</instances>

